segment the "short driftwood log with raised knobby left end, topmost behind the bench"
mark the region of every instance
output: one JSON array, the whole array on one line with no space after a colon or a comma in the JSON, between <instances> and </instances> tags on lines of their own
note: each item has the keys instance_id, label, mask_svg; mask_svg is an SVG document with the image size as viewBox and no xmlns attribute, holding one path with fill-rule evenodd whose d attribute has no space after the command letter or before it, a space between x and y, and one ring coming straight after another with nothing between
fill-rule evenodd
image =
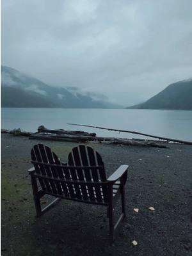
<instances>
[{"instance_id":1,"label":"short driftwood log with raised knobby left end, topmost behind the bench","mask_svg":"<svg viewBox=\"0 0 192 256\"><path fill-rule=\"evenodd\" d=\"M44 127L44 125L40 125L37 129L38 132L47 132L47 133L54 133L54 134L69 134L69 135L79 135L79 136L91 136L95 137L96 133L88 133L83 131L67 131L63 129L57 129L57 130L50 130Z\"/></svg>"}]
</instances>

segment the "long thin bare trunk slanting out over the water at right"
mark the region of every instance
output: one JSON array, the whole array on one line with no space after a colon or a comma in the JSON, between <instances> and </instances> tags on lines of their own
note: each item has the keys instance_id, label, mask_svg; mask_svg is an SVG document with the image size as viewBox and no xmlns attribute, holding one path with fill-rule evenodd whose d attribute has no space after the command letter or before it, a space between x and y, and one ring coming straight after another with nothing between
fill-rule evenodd
<instances>
[{"instance_id":1,"label":"long thin bare trunk slanting out over the water at right","mask_svg":"<svg viewBox=\"0 0 192 256\"><path fill-rule=\"evenodd\" d=\"M192 145L192 141L184 141L184 140L176 140L176 139L171 139L171 138L164 138L164 137L155 136L155 135L151 135L151 134L146 134L146 133L142 133L142 132L136 132L136 131L111 129L111 128L106 128L106 127L99 127L99 126L92 126L92 125L83 125L83 124L68 124L68 125L92 127L92 128L103 129L103 130L108 130L108 131L115 131L115 132L129 132L129 133L133 133L133 134L139 134L139 135L143 135L143 136L147 136L147 137L151 137L151 138L156 138L156 139L159 139L159 140L173 141L173 142L179 142L179 143L183 143L183 144Z\"/></svg>"}]
</instances>

